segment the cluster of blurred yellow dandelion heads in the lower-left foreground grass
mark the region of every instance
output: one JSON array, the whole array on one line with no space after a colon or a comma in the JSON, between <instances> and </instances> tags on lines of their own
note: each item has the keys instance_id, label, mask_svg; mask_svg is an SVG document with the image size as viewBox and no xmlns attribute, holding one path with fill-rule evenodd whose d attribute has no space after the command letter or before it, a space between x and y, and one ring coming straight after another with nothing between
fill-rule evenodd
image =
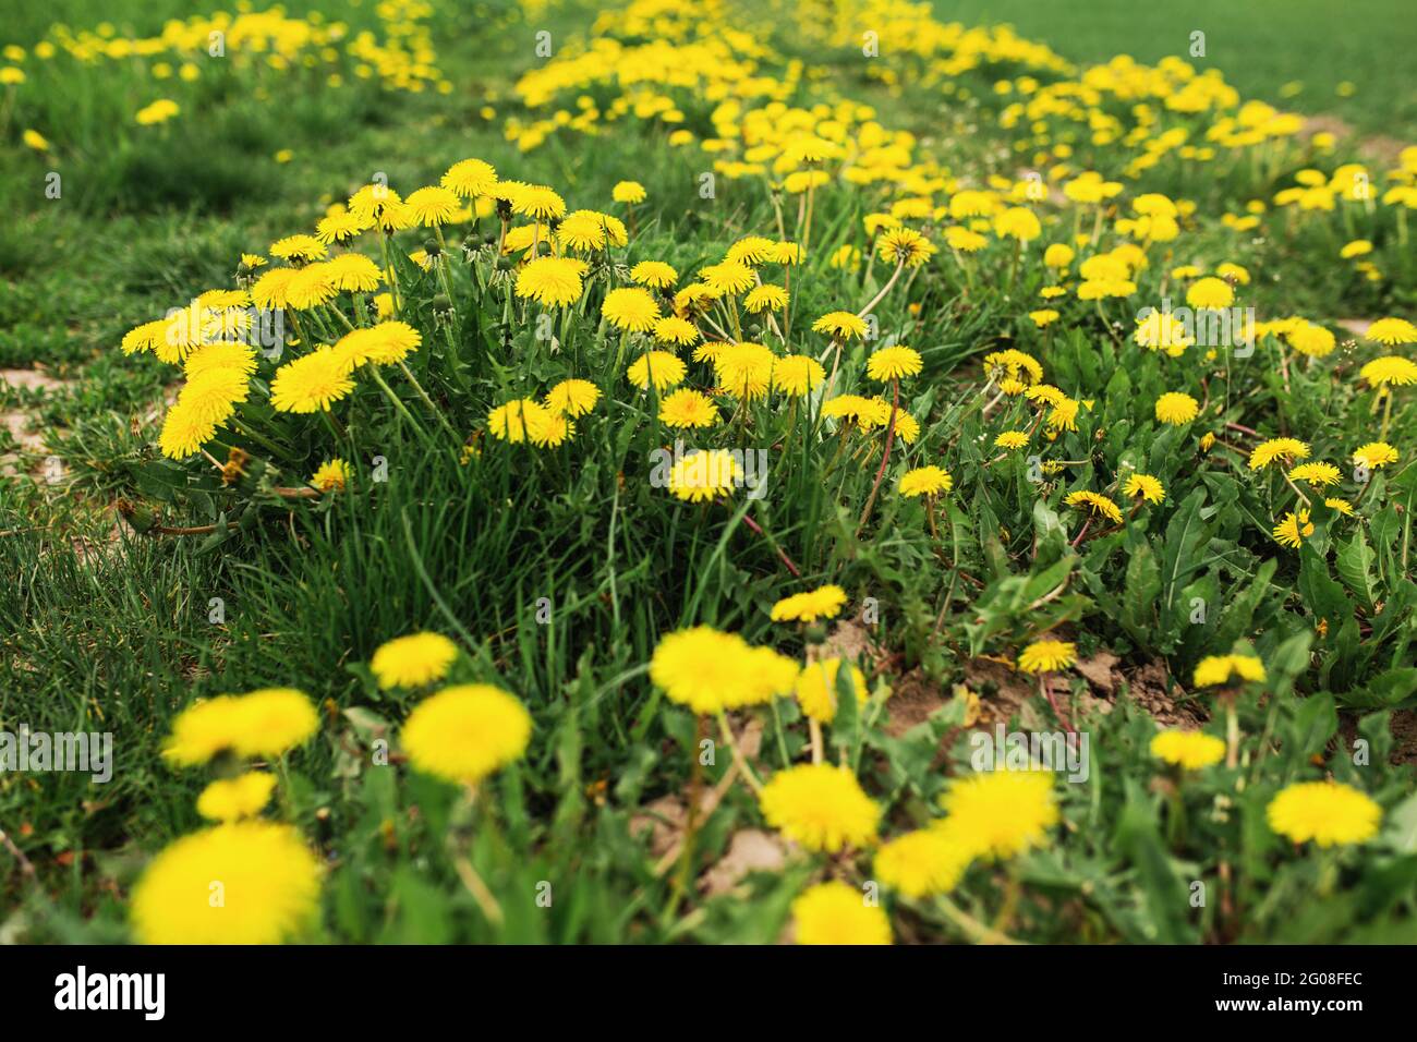
<instances>
[{"instance_id":1,"label":"cluster of blurred yellow dandelion heads in the lower-left foreground grass","mask_svg":"<svg viewBox=\"0 0 1417 1042\"><path fill-rule=\"evenodd\" d=\"M383 688L425 690L456 658L448 638L421 632L381 645L370 671ZM283 757L317 727L310 700L286 688L200 700L176 717L163 758L218 774L197 798L197 812L215 824L177 839L149 863L130 900L137 940L278 944L316 934L320 859L293 825L262 815ZM468 788L520 758L530 737L526 707L486 683L429 693L400 733L415 770Z\"/></svg>"}]
</instances>

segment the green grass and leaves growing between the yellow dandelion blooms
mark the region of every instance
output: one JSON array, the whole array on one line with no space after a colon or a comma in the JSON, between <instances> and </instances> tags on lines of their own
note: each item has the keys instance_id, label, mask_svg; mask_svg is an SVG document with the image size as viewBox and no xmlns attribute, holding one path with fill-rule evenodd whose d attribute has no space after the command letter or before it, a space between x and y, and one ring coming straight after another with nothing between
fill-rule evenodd
<instances>
[{"instance_id":1,"label":"green grass and leaves growing between the yellow dandelion blooms","mask_svg":"<svg viewBox=\"0 0 1417 1042\"><path fill-rule=\"evenodd\" d=\"M7 31L31 43L48 17L94 24L109 7L71 0L52 16L27 9ZM1291 13L1284 26L1268 26L1270 16L1217 6L1212 28L1182 27L1192 16L1122 20L1122 7L1111 4L1095 6L1091 17L1076 7L1007 3L939 10L966 20L1009 18L1080 61L1122 50L1141 60L1183 54L1189 30L1203 28L1213 60L1226 62L1227 78L1247 94L1272 99L1278 84L1305 78L1295 103L1338 112L1363 130L1410 126L1414 118L1410 91L1399 89L1411 82L1401 71L1411 57L1399 52L1399 34L1382 31L1379 17L1353 20L1372 35L1365 78L1343 71L1352 58L1338 48L1349 44L1319 31L1328 23L1316 16ZM128 17L136 31L153 31L169 13L135 6ZM669 441L667 432L653 420L653 401L626 391L621 344L598 322L595 305L558 323L553 350L534 335L533 309L483 288L493 269L487 257L478 261L476 278L468 264L451 265L458 306L451 329L434 318L436 279L400 262L407 316L425 333L414 371L459 437L479 432L470 458L444 438L395 370L388 379L424 434L364 380L341 403L343 432L269 411L249 418L247 430L279 447L262 454L279 471L266 478L299 485L323 459L343 455L357 475L350 495L292 503L255 475L225 488L200 462L157 455L153 410L176 370L149 356L122 357L123 332L201 289L230 285L239 252L309 228L374 170L407 191L479 155L506 176L555 184L572 208L608 207L611 186L636 177L650 203L632 245L614 258L621 267L665 259L687 275L741 235L772 228L774 214L751 184L721 181L718 198L704 204L694 187L703 156L666 150L659 132L632 125L604 139L565 135L520 155L478 115L489 88L504 88L534 61L526 47L530 26L509 11L497 17L510 26L506 33L486 28L479 11L439 10L439 65L459 85L452 96L302 89L276 98L282 118L275 121L271 102L235 92L211 98L210 118L170 132L125 130L115 155L85 147L86 135L102 133L95 115L58 149L75 190L57 201L35 189L44 159L18 147L0 153L0 204L18 214L0 227L7 291L0 366L43 366L69 381L43 398L4 393L0 407L23 407L45 434L45 451L71 468L57 488L0 478L0 574L16 577L0 591L0 722L106 729L119 747L115 781L98 797L81 777L0 777L0 827L40 878L30 885L0 853L0 893L17 909L23 934L126 940L126 896L143 865L201 825L194 800L204 773L174 771L160 756L171 719L194 698L293 685L319 706L322 723L312 743L278 766L278 815L327 861L316 937L771 943L822 863L794 858L782 872L750 876L735 893L701 897L699 873L735 834L762 828L743 784L700 822L691 861L662 862L663 851L646 851L638 819L653 807L673 825L676 801L682 808L696 785L713 785L728 770L723 750L716 763L701 764L700 743L711 732L648 682L646 662L662 634L693 624L799 655L809 634L771 624L767 608L832 581L853 605L871 597L884 612L867 656L877 700L853 713L847 696L829 740L888 808L888 835L928 821L947 777L968 770L959 729L966 703L949 695L979 655L1012 656L1039 634L1061 632L1083 655L1118 655L1124 690L1141 686L1141 666L1161 663L1166 696L1183 707L1199 702L1182 692L1203 655L1240 644L1267 663L1264 696L1248 689L1234 705L1244 760L1187 778L1176 791L1146 753L1153 722L1129 698L1119 696L1107 716L1087 717L1097 770L1090 784L1058 787L1070 822L1066 842L1015 862L1023 896L1010 914L1019 936L1054 943L1403 940L1417 902L1417 856L1400 828L1401 815L1413 814L1413 801L1401 802L1411 777L1391 763L1390 722L1410 705L1403 685L1417 608L1417 587L1407 578L1417 471L1379 474L1363 491L1360 526L1342 527L1319 513L1314 540L1280 554L1268 529L1292 499L1284 483L1255 479L1220 448L1199 461L1185 434L1161 428L1152 403L1186 377L1161 356L1114 344L1091 309L1070 312L1040 335L1024 312L1037 306L1046 274L1024 265L1017 279L1006 275L1006 250L979 258L978 291L956 268L937 262L877 312L883 336L924 356L925 371L908 390L921 435L910 448L897 442L893 461L896 468L905 459L939 462L955 475L934 519L938 537L924 508L894 496L890 482L871 523L862 525L879 447L845 431L812 438L806 415L768 407L738 413L733 437L774 452L771 495L728 506L674 502L645 476L650 451ZM565 18L567 38L588 24L587 11ZM1237 18L1254 21L1246 37ZM1270 45L1257 47L1261 40ZM791 38L777 43L794 48ZM986 172L1016 173L1007 156L999 160L1003 135L988 102L945 108L941 116L922 111L917 98L859 81L859 67L835 55L812 60L836 62L833 82L879 105L883 122L937 133L931 155L951 170L975 183ZM1319 91L1331 92L1323 79L1331 71L1359 85L1353 99L1315 101ZM986 69L969 79L976 98L988 98L993 78ZM88 81L67 89L95 94ZM128 95L119 96L130 106ZM50 96L40 112L58 113L60 101ZM94 112L108 103L88 101ZM707 125L704 106L690 115ZM293 152L289 163L276 163L281 147ZM1336 271L1326 258L1348 238L1336 223L1287 228L1274 217L1270 234L1254 237L1216 224L1217 213L1272 194L1302 162L1287 157L1263 174L1243 163L1214 176L1159 173L1189 179L1176 194L1196 198L1204 220L1187 228L1186 254L1146 274L1146 292L1158 291L1159 272L1172 262L1229 259L1257 275L1248 299L1263 318L1407 313L1410 261L1404 274L1394 259L1380 286ZM795 336L816 350L822 343L803 332L811 318L854 306L886 274L828 267L832 248L859 240L867 207L840 187L823 190L819 206L833 217L818 228L792 285ZM1391 250L1393 228L1374 227ZM421 240L404 233L398 252ZM907 299L918 308L907 308ZM1112 306L1107 318L1127 320L1129 305ZM333 319L329 332L334 339ZM768 337L769 330L750 326L748 335ZM1034 352L1050 381L1095 400L1078 431L1043 447L1050 459L1076 462L1041 485L1030 479L1024 456L999 461L992 449L1005 425L1032 422L1027 408L1006 401L990 417L981 410L978 356L1009 346ZM1294 371L1281 376L1270 350L1226 367L1223 381L1212 373L1206 396L1223 404L1220 427L1230 420L1265 434L1314 431L1319 456L1335 459L1376 437L1370 396L1353 373L1366 354L1295 360ZM880 391L867 386L864 357L862 344L845 352L842 390ZM269 381L273 369L262 363L259 379ZM694 386L711 380L701 367L693 373ZM578 421L567 447L534 452L485 434L492 405L567 376L616 388ZM1407 430L1413 417L1411 403L1400 401L1393 430ZM214 451L224 454L221 445ZM387 465L387 481L373 479L376 456ZM1161 478L1169 498L1125 529L1084 543L1058 500L1066 491L1108 486L1124 459ZM893 468L890 481L897 476ZM1345 478L1343 493L1357 492ZM119 503L156 509L170 526L242 523L210 537L145 536L115 529ZM778 549L801 570L799 580ZM1195 598L1212 605L1199 624L1189 618ZM1319 618L1331 638L1316 637ZM381 690L367 663L381 642L418 628L458 642L451 679L506 686L534 719L527 757L489 781L476 804L374 757L418 696ZM893 730L879 699L884 683L922 689L938 707L914 730ZM975 686L986 706L1007 706L1007 692ZM1083 713L1088 686L1073 678L1058 688L1068 712ZM1209 730L1223 734L1224 712L1219 703L1213 709ZM1029 727L1057 723L1040 699L1003 716ZM735 715L735 724L748 719ZM808 732L794 700L757 722L760 773L802 760ZM1353 763L1349 734L1370 743L1370 766ZM1379 853L1295 856L1268 831L1268 801L1282 785L1316 777L1314 757L1389 808ZM1212 812L1220 800L1233 801L1229 815ZM656 870L656 863L667 868ZM1193 914L1176 900L1195 878L1213 883L1220 863L1226 873L1236 870L1243 919L1223 916L1216 902ZM869 872L866 865L862 859ZM500 923L466 886L468 866L496 895ZM976 865L959 903L996 921L1009 900L1009 872ZM533 896L547 880L555 899L543 910ZM930 903L897 903L894 913L910 939L966 936Z\"/></svg>"}]
</instances>

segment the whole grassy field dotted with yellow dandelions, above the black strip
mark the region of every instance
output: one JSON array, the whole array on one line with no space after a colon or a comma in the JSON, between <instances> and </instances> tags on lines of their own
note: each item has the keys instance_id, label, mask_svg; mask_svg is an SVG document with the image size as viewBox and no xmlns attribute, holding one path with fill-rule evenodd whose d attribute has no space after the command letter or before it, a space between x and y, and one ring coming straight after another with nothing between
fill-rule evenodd
<instances>
[{"instance_id":1,"label":"whole grassy field dotted with yellow dandelions, above the black strip","mask_svg":"<svg viewBox=\"0 0 1417 1042\"><path fill-rule=\"evenodd\" d=\"M0 939L1417 940L1413 34L1212 7L23 7Z\"/></svg>"}]
</instances>

